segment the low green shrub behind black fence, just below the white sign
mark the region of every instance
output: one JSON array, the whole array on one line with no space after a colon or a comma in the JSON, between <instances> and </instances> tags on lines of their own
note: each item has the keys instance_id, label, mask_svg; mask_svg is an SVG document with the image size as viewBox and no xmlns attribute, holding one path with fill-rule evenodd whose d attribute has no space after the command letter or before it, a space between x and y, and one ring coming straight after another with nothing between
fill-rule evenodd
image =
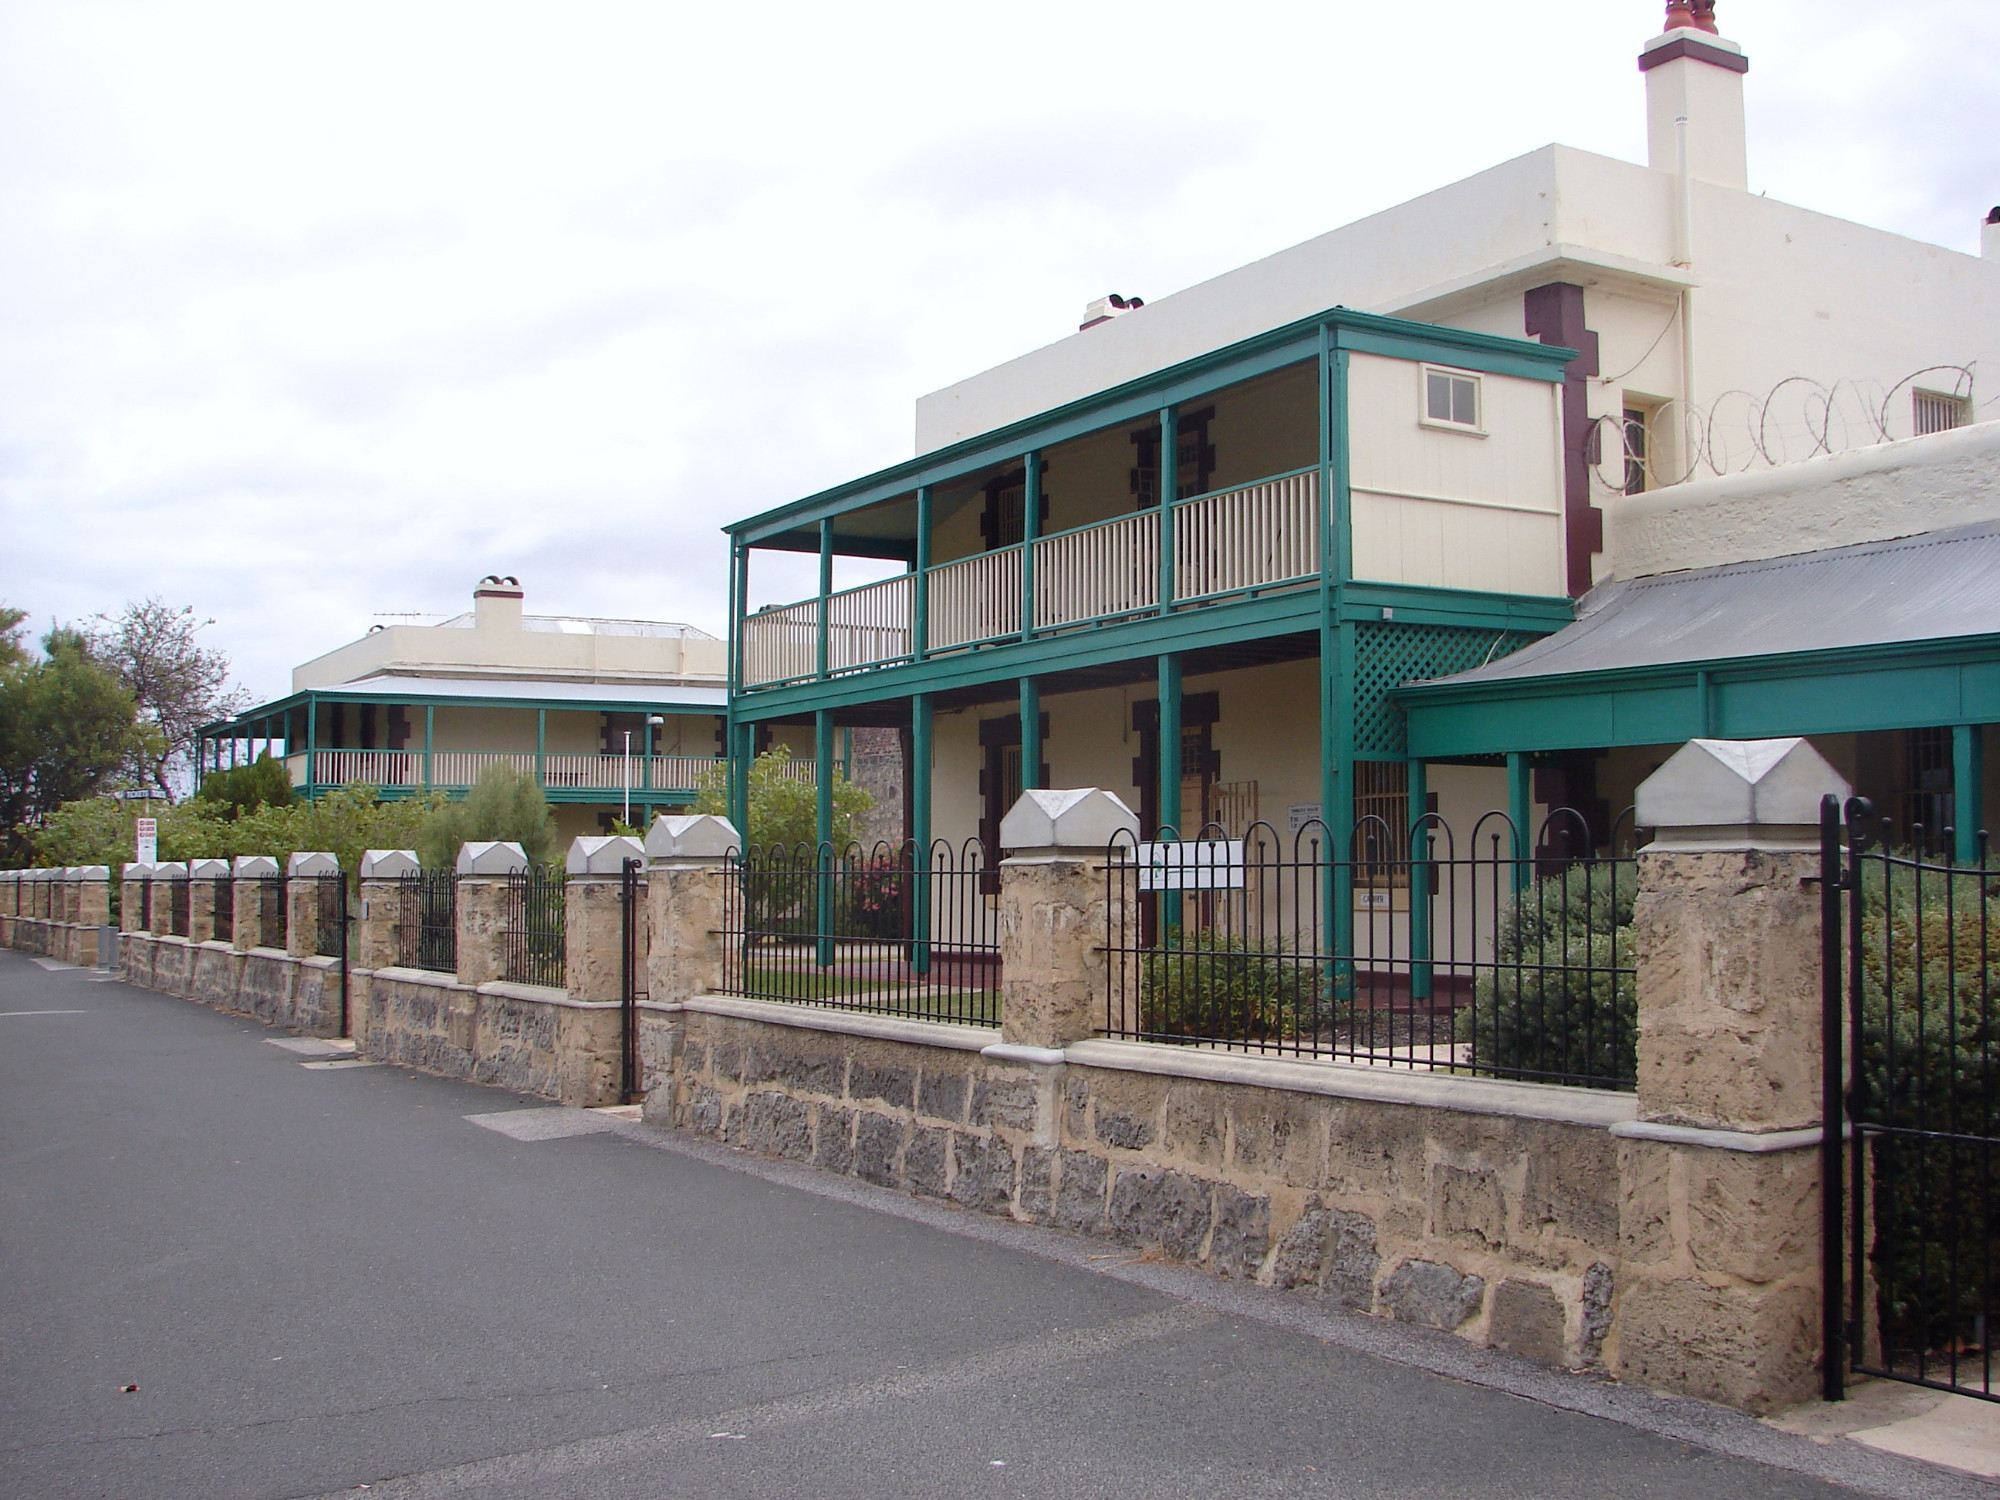
<instances>
[{"instance_id":1,"label":"low green shrub behind black fence, just below the white sign","mask_svg":"<svg viewBox=\"0 0 2000 1500\"><path fill-rule=\"evenodd\" d=\"M1330 1022L1332 990L1310 958L1208 928L1168 928L1140 962L1140 1030L1252 1042L1314 1036Z\"/></svg>"}]
</instances>

